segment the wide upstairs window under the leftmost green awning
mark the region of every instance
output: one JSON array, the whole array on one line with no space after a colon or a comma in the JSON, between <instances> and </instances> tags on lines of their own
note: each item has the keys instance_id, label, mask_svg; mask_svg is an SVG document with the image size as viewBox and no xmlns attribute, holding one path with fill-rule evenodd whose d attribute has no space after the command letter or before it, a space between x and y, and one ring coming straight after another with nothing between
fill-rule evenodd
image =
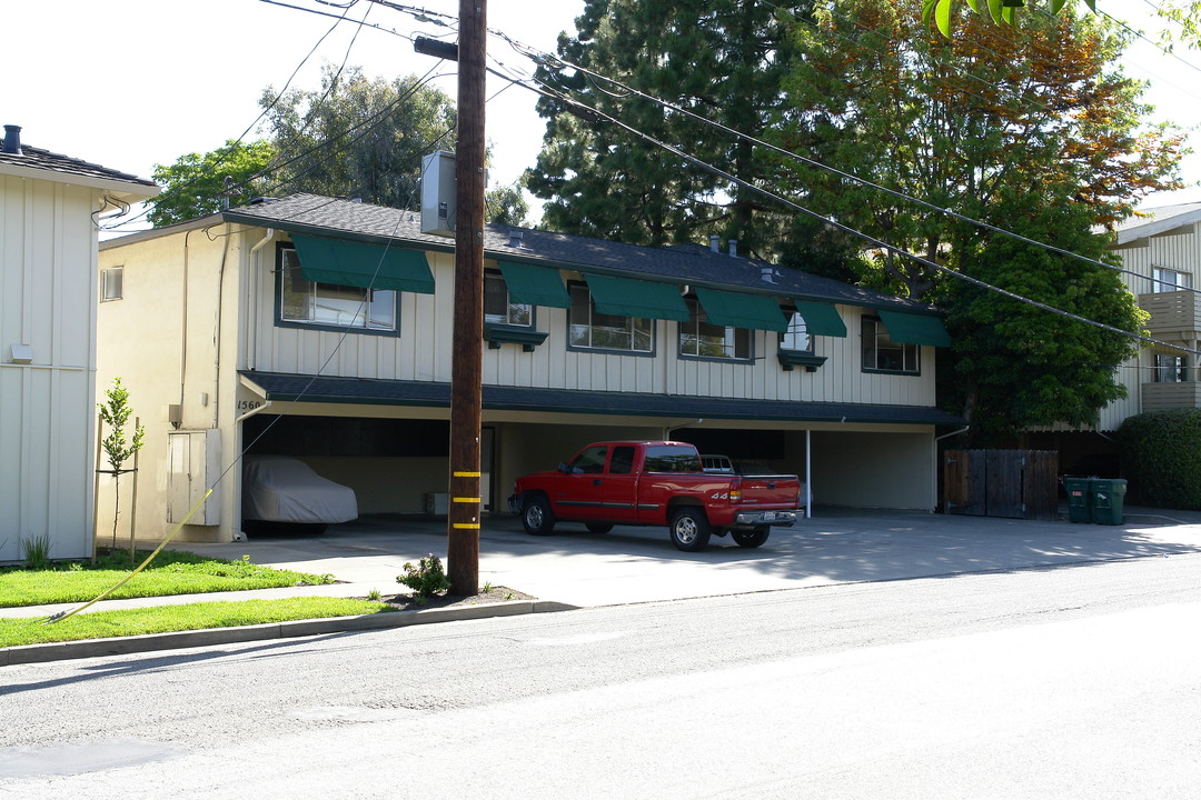
<instances>
[{"instance_id":1,"label":"wide upstairs window under the leftmost green awning","mask_svg":"<svg viewBox=\"0 0 1201 800\"><path fill-rule=\"evenodd\" d=\"M281 323L396 331L394 290L306 281L294 249L280 249L279 285Z\"/></svg>"}]
</instances>

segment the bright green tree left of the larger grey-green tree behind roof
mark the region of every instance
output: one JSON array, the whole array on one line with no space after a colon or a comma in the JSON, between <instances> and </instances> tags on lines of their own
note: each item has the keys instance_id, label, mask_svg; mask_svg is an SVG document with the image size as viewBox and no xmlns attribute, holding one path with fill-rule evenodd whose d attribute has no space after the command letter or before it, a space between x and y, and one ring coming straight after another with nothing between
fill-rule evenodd
<instances>
[{"instance_id":1,"label":"bright green tree left of the larger grey-green tree behind roof","mask_svg":"<svg viewBox=\"0 0 1201 800\"><path fill-rule=\"evenodd\" d=\"M151 178L162 192L148 215L150 224L159 228L203 217L264 194L270 186L267 169L275 155L270 142L229 139L216 150L190 152L173 164L155 164Z\"/></svg>"}]
</instances>

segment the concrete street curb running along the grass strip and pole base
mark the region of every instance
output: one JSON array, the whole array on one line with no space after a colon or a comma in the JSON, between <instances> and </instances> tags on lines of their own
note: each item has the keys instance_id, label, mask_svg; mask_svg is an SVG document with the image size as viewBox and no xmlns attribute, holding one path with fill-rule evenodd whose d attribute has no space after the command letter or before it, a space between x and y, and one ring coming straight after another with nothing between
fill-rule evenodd
<instances>
[{"instance_id":1,"label":"concrete street curb running along the grass strip and pole base","mask_svg":"<svg viewBox=\"0 0 1201 800\"><path fill-rule=\"evenodd\" d=\"M381 612L377 614L360 614L358 616L330 616L269 622L265 625L214 627L203 631L174 631L171 633L147 633L144 636L113 637L107 639L23 644L14 648L0 649L0 667L66 661L68 658L121 656L135 652L153 652L155 650L175 650L179 648L203 648L217 644L289 639L301 636L378 631L390 627L408 627L410 625L543 614L575 610L578 608L578 606L551 600L513 600L498 603L480 603L478 606L459 606L456 608Z\"/></svg>"}]
</instances>

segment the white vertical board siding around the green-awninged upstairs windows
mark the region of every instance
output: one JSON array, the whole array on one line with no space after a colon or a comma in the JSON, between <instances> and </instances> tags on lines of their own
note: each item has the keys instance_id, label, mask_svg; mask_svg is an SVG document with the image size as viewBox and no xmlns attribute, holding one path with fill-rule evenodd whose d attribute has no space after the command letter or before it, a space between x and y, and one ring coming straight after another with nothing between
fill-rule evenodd
<instances>
[{"instance_id":1,"label":"white vertical board siding around the green-awninged upstairs windows","mask_svg":"<svg viewBox=\"0 0 1201 800\"><path fill-rule=\"evenodd\" d=\"M264 247L257 264L257 369L399 380L450 380L454 319L454 259L430 253L435 294L400 295L400 336L280 327L275 325L275 253ZM826 362L815 372L785 372L776 360L776 333L755 331L751 363L681 359L676 323L655 323L653 355L572 350L567 345L567 312L539 307L536 327L546 339L526 353L506 343L485 348L485 384L549 386L579 391L650 392L741 399L823 401L933 405L934 350L922 348L920 375L865 373L860 369L861 311L839 306L844 338L818 336L815 355ZM337 348L333 360L329 354Z\"/></svg>"}]
</instances>

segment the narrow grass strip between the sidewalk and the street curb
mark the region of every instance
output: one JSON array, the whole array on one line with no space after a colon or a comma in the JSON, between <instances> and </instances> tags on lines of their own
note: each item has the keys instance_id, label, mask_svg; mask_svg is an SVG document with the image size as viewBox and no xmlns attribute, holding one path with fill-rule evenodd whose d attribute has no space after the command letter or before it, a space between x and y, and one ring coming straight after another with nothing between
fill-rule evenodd
<instances>
[{"instance_id":1,"label":"narrow grass strip between the sidewalk and the street curb","mask_svg":"<svg viewBox=\"0 0 1201 800\"><path fill-rule=\"evenodd\" d=\"M60 622L44 619L0 619L0 648L50 642L77 642L116 636L202 631L298 619L357 616L395 612L393 606L346 597L288 597L239 600L100 610L70 616Z\"/></svg>"}]
</instances>

